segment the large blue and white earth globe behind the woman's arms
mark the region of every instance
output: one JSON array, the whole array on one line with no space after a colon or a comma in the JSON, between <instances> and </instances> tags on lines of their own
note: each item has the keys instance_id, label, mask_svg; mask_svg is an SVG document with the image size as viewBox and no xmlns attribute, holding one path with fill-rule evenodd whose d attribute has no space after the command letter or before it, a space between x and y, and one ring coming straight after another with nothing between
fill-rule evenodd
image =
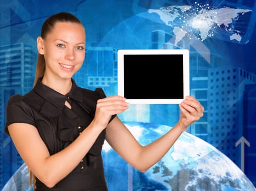
<instances>
[{"instance_id":1,"label":"large blue and white earth globe behind the woman's arms","mask_svg":"<svg viewBox=\"0 0 256 191\"><path fill-rule=\"evenodd\" d=\"M141 145L166 133L169 126L125 122ZM196 136L184 132L164 155L146 172L139 172L125 162L107 144L103 145L105 176L109 191L255 191L241 169L225 154ZM29 191L27 166L23 164L2 191Z\"/></svg>"}]
</instances>

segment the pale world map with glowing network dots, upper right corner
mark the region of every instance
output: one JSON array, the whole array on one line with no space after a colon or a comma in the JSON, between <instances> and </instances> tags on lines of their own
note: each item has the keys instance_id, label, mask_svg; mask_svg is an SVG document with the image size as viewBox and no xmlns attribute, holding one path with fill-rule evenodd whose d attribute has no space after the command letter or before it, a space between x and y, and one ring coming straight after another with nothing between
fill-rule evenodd
<instances>
[{"instance_id":1,"label":"pale world map with glowing network dots, upper right corner","mask_svg":"<svg viewBox=\"0 0 256 191\"><path fill-rule=\"evenodd\" d=\"M149 9L148 13L156 13L162 22L172 27L175 45L184 37L206 40L214 35L227 35L229 40L240 42L244 31L236 29L237 22L249 9L223 7L213 9L209 4L172 5L160 9ZM244 29L245 30L245 29Z\"/></svg>"}]
</instances>

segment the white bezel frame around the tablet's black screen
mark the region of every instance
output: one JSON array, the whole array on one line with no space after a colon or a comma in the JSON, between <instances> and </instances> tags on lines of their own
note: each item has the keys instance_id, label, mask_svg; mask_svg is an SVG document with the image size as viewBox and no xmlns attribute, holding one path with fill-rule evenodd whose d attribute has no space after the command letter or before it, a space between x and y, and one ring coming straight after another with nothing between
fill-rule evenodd
<instances>
[{"instance_id":1,"label":"white bezel frame around the tablet's black screen","mask_svg":"<svg viewBox=\"0 0 256 191\"><path fill-rule=\"evenodd\" d=\"M120 49L117 51L117 92L124 95L124 55L183 55L183 98L181 99L129 99L129 104L180 104L190 94L189 50L186 49ZM138 63L139 64L139 63ZM168 65L172 68L172 65ZM145 73L146 74L146 73ZM130 74L133 75L133 74ZM180 76L177 76L177 80ZM168 82L169 83L169 82ZM175 83L175 82L174 82Z\"/></svg>"}]
</instances>

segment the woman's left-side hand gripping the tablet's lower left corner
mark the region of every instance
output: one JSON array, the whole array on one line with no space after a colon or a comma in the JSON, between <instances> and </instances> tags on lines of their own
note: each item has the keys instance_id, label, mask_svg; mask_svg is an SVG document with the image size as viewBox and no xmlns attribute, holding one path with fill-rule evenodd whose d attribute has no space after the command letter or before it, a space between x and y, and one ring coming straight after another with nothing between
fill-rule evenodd
<instances>
[{"instance_id":1,"label":"woman's left-side hand gripping the tablet's lower left corner","mask_svg":"<svg viewBox=\"0 0 256 191\"><path fill-rule=\"evenodd\" d=\"M126 98L110 96L98 99L94 117L94 124L100 128L106 128L112 115L120 114L128 109Z\"/></svg>"}]
</instances>

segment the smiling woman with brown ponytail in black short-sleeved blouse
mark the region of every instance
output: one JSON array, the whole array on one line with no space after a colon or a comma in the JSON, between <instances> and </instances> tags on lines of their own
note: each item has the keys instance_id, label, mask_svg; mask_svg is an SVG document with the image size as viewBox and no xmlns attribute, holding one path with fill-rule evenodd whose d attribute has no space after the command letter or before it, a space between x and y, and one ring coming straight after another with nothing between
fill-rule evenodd
<instances>
[{"instance_id":1,"label":"smiling woman with brown ponytail in black short-sleeved blouse","mask_svg":"<svg viewBox=\"0 0 256 191\"><path fill-rule=\"evenodd\" d=\"M161 138L141 146L117 117L128 109L121 96L80 88L72 76L85 56L86 33L69 13L50 16L37 38L39 52L33 89L14 95L7 106L5 133L35 176L35 190L107 190L101 149L104 140L130 165L145 172L181 133L203 116L188 96L178 123Z\"/></svg>"}]
</instances>

